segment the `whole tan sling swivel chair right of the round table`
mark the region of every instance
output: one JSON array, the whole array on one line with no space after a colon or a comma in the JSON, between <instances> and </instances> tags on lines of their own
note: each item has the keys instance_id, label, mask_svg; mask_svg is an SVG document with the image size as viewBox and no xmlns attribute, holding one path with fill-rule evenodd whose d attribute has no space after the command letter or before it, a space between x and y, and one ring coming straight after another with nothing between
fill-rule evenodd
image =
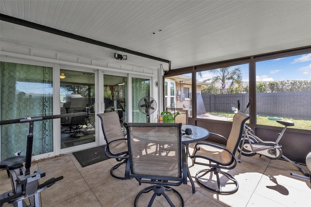
<instances>
[{"instance_id":1,"label":"whole tan sling swivel chair right of the round table","mask_svg":"<svg viewBox=\"0 0 311 207\"><path fill-rule=\"evenodd\" d=\"M247 116L241 112L235 114L233 117L231 131L227 139L221 135L210 133L224 138L226 140L225 146L217 145L207 141L201 141L195 145L193 154L191 155L194 164L210 167L208 169L200 170L196 173L195 180L199 183L200 186L222 194L232 194L239 189L238 181L232 175L222 171L221 169L230 170L235 168L237 164L235 153L242 138L244 123L249 119L250 116ZM216 175L217 182L213 182L214 180L212 173ZM220 177L219 174L224 175L227 179ZM216 183L217 186L215 186ZM227 187L223 189L223 187L230 184L233 184L232 188L228 189Z\"/></svg>"}]
</instances>

